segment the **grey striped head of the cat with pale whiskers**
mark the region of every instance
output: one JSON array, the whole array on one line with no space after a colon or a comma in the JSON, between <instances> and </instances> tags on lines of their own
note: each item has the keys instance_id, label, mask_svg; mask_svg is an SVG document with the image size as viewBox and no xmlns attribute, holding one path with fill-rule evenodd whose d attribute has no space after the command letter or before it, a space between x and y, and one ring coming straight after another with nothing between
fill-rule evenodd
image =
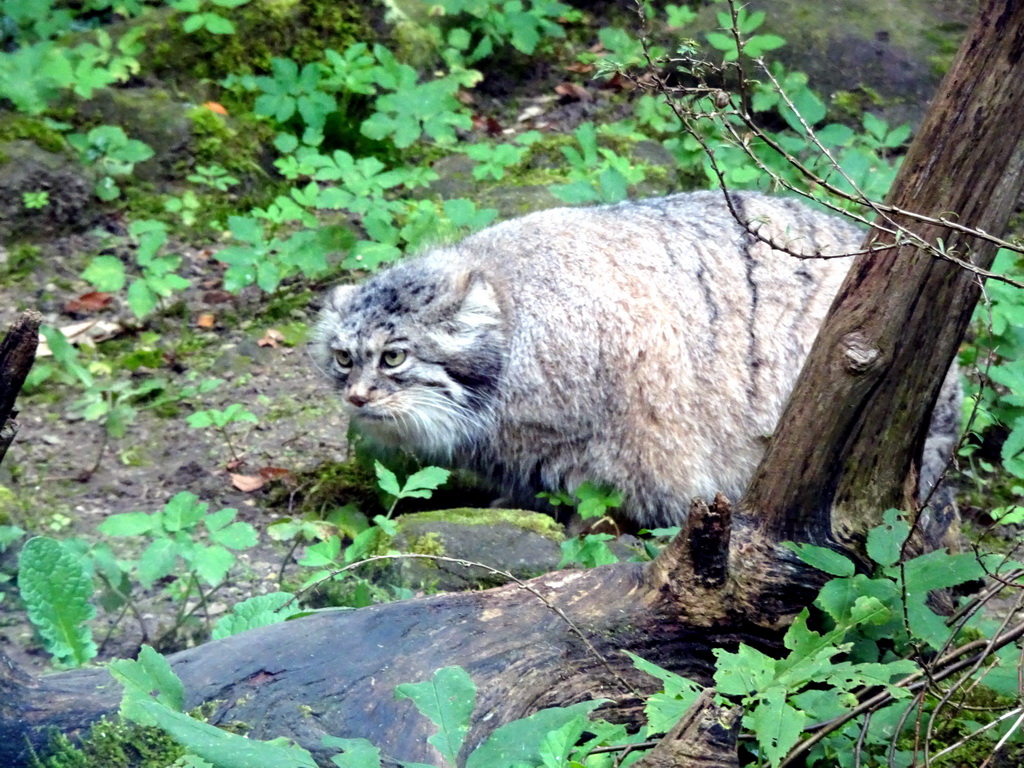
<instances>
[{"instance_id":1,"label":"grey striped head of the cat with pale whiskers","mask_svg":"<svg viewBox=\"0 0 1024 768\"><path fill-rule=\"evenodd\" d=\"M426 259L331 291L313 354L360 431L443 459L485 427L505 346L493 286Z\"/></svg>"}]
</instances>

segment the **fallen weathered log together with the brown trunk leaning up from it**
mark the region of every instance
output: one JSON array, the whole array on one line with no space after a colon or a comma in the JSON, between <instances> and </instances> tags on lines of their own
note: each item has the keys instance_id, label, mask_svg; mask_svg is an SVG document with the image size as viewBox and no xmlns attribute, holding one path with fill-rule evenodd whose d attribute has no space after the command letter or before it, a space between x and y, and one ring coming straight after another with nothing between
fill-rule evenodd
<instances>
[{"instance_id":1,"label":"fallen weathered log together with the brown trunk leaning up from it","mask_svg":"<svg viewBox=\"0 0 1024 768\"><path fill-rule=\"evenodd\" d=\"M1024 165L1024 4L982 5L889 203L933 217L955 212L1001 232ZM991 263L987 243L893 218L977 265ZM869 240L892 243L879 232ZM319 614L211 642L171 657L188 706L215 699L215 722L291 736L321 760L319 737L330 733L429 762L438 759L429 724L392 689L461 665L478 690L467 750L510 720L595 696L612 699L604 716L637 722L637 694L654 685L620 649L709 682L715 648L776 645L825 578L780 542L857 556L886 506L912 505L914 457L977 295L972 274L907 245L859 258L735 513L721 498L710 509L695 505L654 562ZM0 673L0 764L24 762L27 740L39 744L45 726L76 731L119 698L101 669L34 680L3 665ZM693 713L690 730L674 732L679 764L702 755L707 764L735 764L734 729L711 732L709 722ZM705 752L699 739L709 738L716 746Z\"/></svg>"}]
</instances>

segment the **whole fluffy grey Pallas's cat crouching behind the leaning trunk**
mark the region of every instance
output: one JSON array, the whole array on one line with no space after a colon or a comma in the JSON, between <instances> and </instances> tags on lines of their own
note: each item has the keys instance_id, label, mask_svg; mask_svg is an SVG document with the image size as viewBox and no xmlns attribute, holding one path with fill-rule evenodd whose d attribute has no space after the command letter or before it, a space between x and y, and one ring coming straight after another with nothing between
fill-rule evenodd
<instances>
[{"instance_id":1,"label":"whole fluffy grey Pallas's cat crouching behind the leaning trunk","mask_svg":"<svg viewBox=\"0 0 1024 768\"><path fill-rule=\"evenodd\" d=\"M327 297L314 358L356 427L468 468L505 501L585 480L620 515L735 501L862 232L803 204L721 191L555 209L435 248ZM922 487L955 440L950 375Z\"/></svg>"}]
</instances>

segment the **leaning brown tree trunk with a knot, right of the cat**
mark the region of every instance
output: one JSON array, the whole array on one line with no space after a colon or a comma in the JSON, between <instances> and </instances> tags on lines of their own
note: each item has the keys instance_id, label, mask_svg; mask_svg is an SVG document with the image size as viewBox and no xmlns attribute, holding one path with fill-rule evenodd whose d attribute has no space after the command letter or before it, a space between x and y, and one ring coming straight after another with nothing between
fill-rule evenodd
<instances>
[{"instance_id":1,"label":"leaning brown tree trunk with a knot, right of the cat","mask_svg":"<svg viewBox=\"0 0 1024 768\"><path fill-rule=\"evenodd\" d=\"M1024 174L1024 7L981 3L887 203L1001 234ZM771 537L857 551L889 507L912 509L928 418L977 303L975 274L878 226L897 224L988 268L996 248L883 215L797 381L748 488ZM911 439L906 439L909 435ZM911 482L907 482L910 478Z\"/></svg>"}]
</instances>

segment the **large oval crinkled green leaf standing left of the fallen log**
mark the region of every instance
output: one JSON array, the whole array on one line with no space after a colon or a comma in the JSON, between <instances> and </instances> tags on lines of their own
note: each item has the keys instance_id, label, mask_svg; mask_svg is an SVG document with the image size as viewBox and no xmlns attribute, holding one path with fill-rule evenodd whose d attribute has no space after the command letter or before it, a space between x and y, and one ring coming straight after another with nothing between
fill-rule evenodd
<instances>
[{"instance_id":1,"label":"large oval crinkled green leaf standing left of the fallen log","mask_svg":"<svg viewBox=\"0 0 1024 768\"><path fill-rule=\"evenodd\" d=\"M92 579L81 557L54 539L30 539L18 557L17 586L29 620L57 664L81 667L96 655L85 624L96 615L89 602Z\"/></svg>"}]
</instances>

